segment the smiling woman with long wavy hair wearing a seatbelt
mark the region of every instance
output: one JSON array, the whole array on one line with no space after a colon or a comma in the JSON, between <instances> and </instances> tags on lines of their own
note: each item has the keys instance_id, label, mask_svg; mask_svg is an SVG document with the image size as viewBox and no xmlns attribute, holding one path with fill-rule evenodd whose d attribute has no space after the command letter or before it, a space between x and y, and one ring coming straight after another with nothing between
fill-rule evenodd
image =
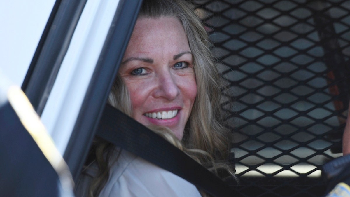
<instances>
[{"instance_id":1,"label":"smiling woman with long wavy hair wearing a seatbelt","mask_svg":"<svg viewBox=\"0 0 350 197\"><path fill-rule=\"evenodd\" d=\"M207 33L191 5L145 0L109 102L204 167L232 174L218 82ZM94 177L89 196L201 196L186 180L107 143L98 142L96 161L84 171ZM86 195L87 179L78 183L77 196Z\"/></svg>"}]
</instances>

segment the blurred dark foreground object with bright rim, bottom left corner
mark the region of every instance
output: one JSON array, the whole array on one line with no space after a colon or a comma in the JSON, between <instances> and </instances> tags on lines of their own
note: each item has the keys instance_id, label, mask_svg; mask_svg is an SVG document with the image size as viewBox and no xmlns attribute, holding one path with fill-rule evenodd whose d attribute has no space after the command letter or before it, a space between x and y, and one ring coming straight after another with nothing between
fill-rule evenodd
<instances>
[{"instance_id":1,"label":"blurred dark foreground object with bright rim, bottom left corner","mask_svg":"<svg viewBox=\"0 0 350 197\"><path fill-rule=\"evenodd\" d=\"M1 71L0 149L3 196L74 196L68 166L40 117Z\"/></svg>"}]
</instances>

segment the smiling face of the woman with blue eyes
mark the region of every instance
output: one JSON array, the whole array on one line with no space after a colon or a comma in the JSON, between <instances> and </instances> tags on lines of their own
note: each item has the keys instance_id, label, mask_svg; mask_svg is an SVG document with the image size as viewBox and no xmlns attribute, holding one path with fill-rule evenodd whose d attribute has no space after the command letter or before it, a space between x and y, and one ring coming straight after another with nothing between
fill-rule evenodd
<instances>
[{"instance_id":1,"label":"smiling face of the woman with blue eyes","mask_svg":"<svg viewBox=\"0 0 350 197\"><path fill-rule=\"evenodd\" d=\"M143 125L168 127L181 140L197 95L192 62L177 18L139 18L119 69L133 118Z\"/></svg>"}]
</instances>

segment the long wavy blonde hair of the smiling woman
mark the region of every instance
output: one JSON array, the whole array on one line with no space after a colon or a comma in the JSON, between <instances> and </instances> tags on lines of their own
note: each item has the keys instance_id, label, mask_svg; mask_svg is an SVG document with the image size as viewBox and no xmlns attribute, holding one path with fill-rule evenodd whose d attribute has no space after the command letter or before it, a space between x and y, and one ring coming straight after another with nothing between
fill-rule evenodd
<instances>
[{"instance_id":1,"label":"long wavy blonde hair of the smiling woman","mask_svg":"<svg viewBox=\"0 0 350 197\"><path fill-rule=\"evenodd\" d=\"M180 142L170 129L152 127L180 150L183 150L198 163L218 175L218 169L224 169L233 178L234 169L228 164L231 134L222 124L220 108L220 76L210 52L210 42L202 22L193 11L193 5L184 0L144 0L139 18L178 18L186 32L196 74L197 96L189 120ZM109 103L127 115L132 113L130 95L123 81L117 76ZM96 141L96 161L99 174L90 186L89 196L98 196L109 178L109 150L107 142ZM203 196L207 196L201 192Z\"/></svg>"}]
</instances>

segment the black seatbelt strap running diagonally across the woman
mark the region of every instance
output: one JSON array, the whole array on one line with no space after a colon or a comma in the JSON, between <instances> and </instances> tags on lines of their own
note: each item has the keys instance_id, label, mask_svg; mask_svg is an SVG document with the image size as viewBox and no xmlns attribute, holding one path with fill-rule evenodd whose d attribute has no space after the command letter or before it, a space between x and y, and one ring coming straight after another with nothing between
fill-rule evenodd
<instances>
[{"instance_id":1,"label":"black seatbelt strap running diagonally across the woman","mask_svg":"<svg viewBox=\"0 0 350 197\"><path fill-rule=\"evenodd\" d=\"M96 135L186 179L213 196L239 196L184 152L109 104L104 109Z\"/></svg>"}]
</instances>

